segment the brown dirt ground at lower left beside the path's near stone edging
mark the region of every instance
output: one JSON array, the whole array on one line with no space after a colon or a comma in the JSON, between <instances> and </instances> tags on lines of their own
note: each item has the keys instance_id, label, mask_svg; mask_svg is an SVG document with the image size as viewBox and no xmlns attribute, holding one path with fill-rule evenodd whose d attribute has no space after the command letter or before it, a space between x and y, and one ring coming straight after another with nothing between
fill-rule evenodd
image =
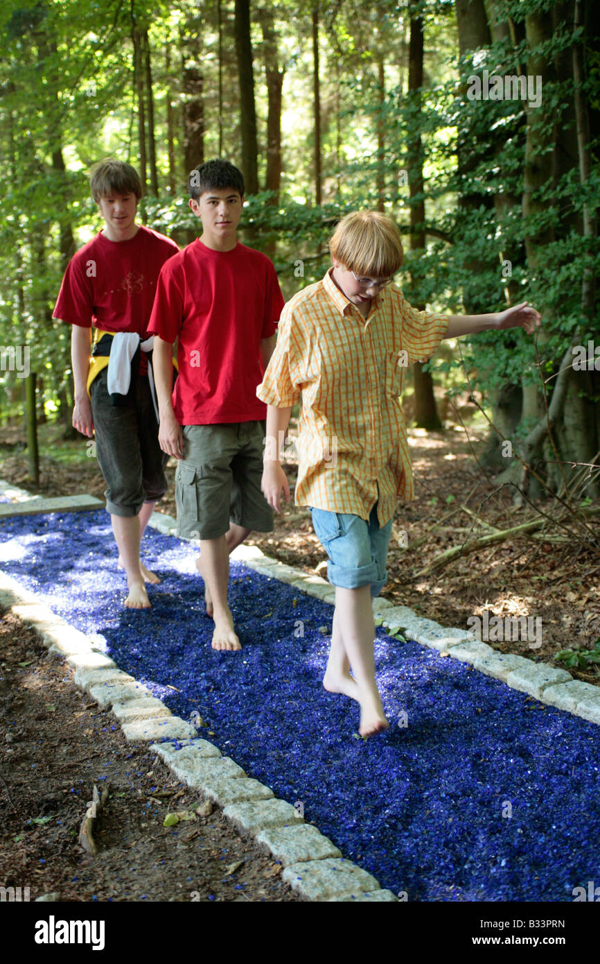
<instances>
[{"instance_id":1,"label":"brown dirt ground at lower left beside the path's near stone edging","mask_svg":"<svg viewBox=\"0 0 600 964\"><path fill-rule=\"evenodd\" d=\"M91 857L78 843L108 787ZM117 718L72 682L36 633L0 620L0 885L81 901L290 901L281 865L242 839ZM163 826L168 813L192 819Z\"/></svg>"}]
</instances>

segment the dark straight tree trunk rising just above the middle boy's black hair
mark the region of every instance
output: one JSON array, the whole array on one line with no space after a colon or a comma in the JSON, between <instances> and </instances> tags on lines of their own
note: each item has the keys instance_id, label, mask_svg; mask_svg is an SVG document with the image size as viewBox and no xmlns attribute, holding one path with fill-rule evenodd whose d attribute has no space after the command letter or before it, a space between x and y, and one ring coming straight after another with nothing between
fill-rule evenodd
<instances>
[{"instance_id":1,"label":"dark straight tree trunk rising just above the middle boy's black hair","mask_svg":"<svg viewBox=\"0 0 600 964\"><path fill-rule=\"evenodd\" d=\"M254 108L254 71L250 40L249 0L235 0L235 49L240 84L240 131L242 170L248 194L258 193L258 145Z\"/></svg>"}]
</instances>

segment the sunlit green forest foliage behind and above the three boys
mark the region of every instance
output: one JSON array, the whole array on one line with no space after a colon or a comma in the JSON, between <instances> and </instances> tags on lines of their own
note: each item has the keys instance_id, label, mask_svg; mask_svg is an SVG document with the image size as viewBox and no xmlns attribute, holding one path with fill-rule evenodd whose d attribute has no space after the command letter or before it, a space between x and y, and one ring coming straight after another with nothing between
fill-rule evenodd
<instances>
[{"instance_id":1,"label":"sunlit green forest foliage behind and above the three boys","mask_svg":"<svg viewBox=\"0 0 600 964\"><path fill-rule=\"evenodd\" d=\"M566 15L570 5L507 0L501 7L516 25L515 41L498 41L476 56L470 52L463 58L458 56L452 0L422 0L411 3L409 9L394 0L371 4L355 0L321 9L325 203L316 207L311 203L311 19L296 0L282 0L277 22L277 56L286 71L281 191L278 199L267 192L247 199L240 236L274 258L284 294L290 297L323 277L327 239L337 219L349 210L382 203L407 239L411 205L424 200L426 247L414 252L406 244L397 279L406 297L412 304L452 313L502 310L508 299L511 303L530 300L543 315L540 358L551 391L555 381L551 376L573 333L580 332L583 339L597 337L593 322L582 317L581 281L587 269L600 275L600 242L582 233L584 205L592 211L600 206L599 145L591 143L591 172L583 189L570 67L572 44L581 43L582 35L573 30ZM108 154L138 164L132 11L138 23L150 25L159 173L158 198L143 199L141 213L150 227L183 245L196 236L198 222L188 206L181 170L179 55L198 40L205 156L215 156L219 145L215 0L195 4L163 0L152 6L147 0L136 0L133 6L65 0L31 8L8 0L0 13L6 38L0 65L4 162L0 166L4 196L0 344L31 345L32 365L43 379L44 400L52 404L70 390L69 331L50 318L66 258L72 253L65 250L68 232L72 231L78 246L101 227L89 197L88 171ZM553 27L532 51L523 40L525 17L540 12L553 18ZM425 82L418 97L407 95L405 67L409 15L417 13L424 17L426 40ZM239 163L231 3L222 4L222 16L223 155ZM262 176L267 102L258 8L252 26ZM585 49L585 94L597 111L600 56L593 44ZM553 65L556 75L544 77L536 115L528 114L520 100L468 98L469 77L481 75L483 69L518 74L533 54ZM569 66L554 69L560 64ZM174 191L169 177L168 99L175 113ZM552 177L535 185L534 208L524 217L528 118L540 130L552 127L564 135L561 163ZM413 162L408 147L417 132L425 191L410 198ZM535 162L543 167L545 159L542 153ZM535 264L527 253L532 238L543 238ZM463 339L460 351L463 361L457 354L432 364L447 385L464 383L463 362L473 386L485 392L507 381L520 384L538 377L534 340L521 331ZM13 373L0 372L0 383L6 388L2 414L12 415L20 410L21 387Z\"/></svg>"}]
</instances>

